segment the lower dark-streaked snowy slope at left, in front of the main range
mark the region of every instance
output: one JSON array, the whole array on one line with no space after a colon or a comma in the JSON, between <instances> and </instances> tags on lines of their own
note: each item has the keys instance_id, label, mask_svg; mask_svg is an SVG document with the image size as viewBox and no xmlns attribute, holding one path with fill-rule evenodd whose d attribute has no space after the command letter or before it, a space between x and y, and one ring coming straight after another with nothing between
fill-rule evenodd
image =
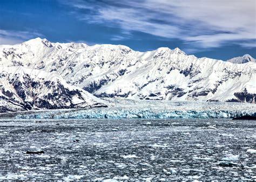
<instances>
[{"instance_id":1,"label":"lower dark-streaked snowy slope at left, in front of the main range","mask_svg":"<svg viewBox=\"0 0 256 182\"><path fill-rule=\"evenodd\" d=\"M105 106L60 76L23 66L0 67L0 112Z\"/></svg>"}]
</instances>

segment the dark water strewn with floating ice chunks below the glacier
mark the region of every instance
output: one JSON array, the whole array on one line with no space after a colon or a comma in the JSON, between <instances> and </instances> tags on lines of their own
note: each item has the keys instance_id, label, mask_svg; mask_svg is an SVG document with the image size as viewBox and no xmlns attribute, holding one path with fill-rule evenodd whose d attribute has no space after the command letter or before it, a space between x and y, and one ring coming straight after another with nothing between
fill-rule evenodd
<instances>
[{"instance_id":1,"label":"dark water strewn with floating ice chunks below the glacier","mask_svg":"<svg viewBox=\"0 0 256 182\"><path fill-rule=\"evenodd\" d=\"M255 180L255 129L230 119L1 120L0 179Z\"/></svg>"}]
</instances>

